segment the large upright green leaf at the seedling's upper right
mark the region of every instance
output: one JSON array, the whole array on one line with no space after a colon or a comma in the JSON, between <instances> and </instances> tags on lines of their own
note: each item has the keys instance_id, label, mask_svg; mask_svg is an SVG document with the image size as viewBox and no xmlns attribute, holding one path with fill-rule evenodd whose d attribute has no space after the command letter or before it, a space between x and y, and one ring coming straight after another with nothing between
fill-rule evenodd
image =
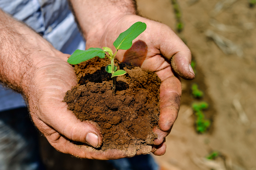
<instances>
[{"instance_id":1,"label":"large upright green leaf at the seedling's upper right","mask_svg":"<svg viewBox=\"0 0 256 170\"><path fill-rule=\"evenodd\" d=\"M146 30L146 24L142 22L136 22L128 30L122 32L114 42L116 50L123 49L128 50L132 46L132 41Z\"/></svg>"}]
</instances>

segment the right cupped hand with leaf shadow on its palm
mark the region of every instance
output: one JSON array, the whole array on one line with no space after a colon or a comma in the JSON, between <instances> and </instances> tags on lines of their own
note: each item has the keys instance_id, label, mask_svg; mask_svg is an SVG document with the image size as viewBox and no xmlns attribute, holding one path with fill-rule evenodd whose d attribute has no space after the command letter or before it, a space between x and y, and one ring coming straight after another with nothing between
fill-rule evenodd
<instances>
[{"instance_id":1,"label":"right cupped hand with leaf shadow on its palm","mask_svg":"<svg viewBox=\"0 0 256 170\"><path fill-rule=\"evenodd\" d=\"M159 128L154 128L158 138L154 140L152 152L163 155L166 149L165 137L170 133L180 108L179 76L194 78L190 50L168 26L137 15L115 18L99 39L87 39L86 48L107 46L114 52L115 39L137 21L146 23L147 29L133 41L129 50L118 50L116 58L120 62L132 62L144 70L154 71L162 81Z\"/></svg>"}]
</instances>

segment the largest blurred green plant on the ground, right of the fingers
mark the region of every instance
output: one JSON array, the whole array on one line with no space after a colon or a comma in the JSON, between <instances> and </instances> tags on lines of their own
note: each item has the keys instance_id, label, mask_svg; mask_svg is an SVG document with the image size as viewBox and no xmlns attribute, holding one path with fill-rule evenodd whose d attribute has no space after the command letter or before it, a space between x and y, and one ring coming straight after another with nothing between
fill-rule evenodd
<instances>
[{"instance_id":1,"label":"largest blurred green plant on the ground, right of the fingers","mask_svg":"<svg viewBox=\"0 0 256 170\"><path fill-rule=\"evenodd\" d=\"M204 133L210 127L210 120L206 120L203 110L208 109L209 104L207 102L193 102L192 109L196 115L196 130L198 133Z\"/></svg>"}]
</instances>

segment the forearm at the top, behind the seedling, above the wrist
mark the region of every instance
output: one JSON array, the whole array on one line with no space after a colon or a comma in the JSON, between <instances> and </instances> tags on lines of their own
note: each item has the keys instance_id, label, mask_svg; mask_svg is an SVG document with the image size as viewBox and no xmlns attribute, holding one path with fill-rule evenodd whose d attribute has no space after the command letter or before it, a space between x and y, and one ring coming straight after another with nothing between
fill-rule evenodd
<instances>
[{"instance_id":1,"label":"forearm at the top, behind the seedling, above the wrist","mask_svg":"<svg viewBox=\"0 0 256 170\"><path fill-rule=\"evenodd\" d=\"M135 0L70 0L70 2L86 39L99 39L112 21L124 15L137 14Z\"/></svg>"}]
</instances>

